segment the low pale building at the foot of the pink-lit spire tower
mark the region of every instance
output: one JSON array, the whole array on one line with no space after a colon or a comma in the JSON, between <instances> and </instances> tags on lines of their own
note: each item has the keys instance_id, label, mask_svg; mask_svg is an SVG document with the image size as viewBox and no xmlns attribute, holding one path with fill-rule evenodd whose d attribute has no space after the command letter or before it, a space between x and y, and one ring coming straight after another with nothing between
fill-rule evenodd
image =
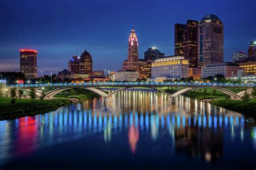
<instances>
[{"instance_id":1,"label":"low pale building at the foot of the pink-lit spire tower","mask_svg":"<svg viewBox=\"0 0 256 170\"><path fill-rule=\"evenodd\" d=\"M135 70L118 70L114 77L115 81L136 81L139 78L139 72Z\"/></svg>"}]
</instances>

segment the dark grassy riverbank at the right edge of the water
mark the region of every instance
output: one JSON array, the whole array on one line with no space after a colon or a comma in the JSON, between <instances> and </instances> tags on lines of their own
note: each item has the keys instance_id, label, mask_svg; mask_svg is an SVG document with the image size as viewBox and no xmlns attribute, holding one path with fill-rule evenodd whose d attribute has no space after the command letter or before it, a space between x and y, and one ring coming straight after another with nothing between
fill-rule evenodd
<instances>
[{"instance_id":1,"label":"dark grassy riverbank at the right edge of the water","mask_svg":"<svg viewBox=\"0 0 256 170\"><path fill-rule=\"evenodd\" d=\"M256 119L256 98L244 102L242 100L220 99L211 102L214 105L240 112L241 114Z\"/></svg>"}]
</instances>

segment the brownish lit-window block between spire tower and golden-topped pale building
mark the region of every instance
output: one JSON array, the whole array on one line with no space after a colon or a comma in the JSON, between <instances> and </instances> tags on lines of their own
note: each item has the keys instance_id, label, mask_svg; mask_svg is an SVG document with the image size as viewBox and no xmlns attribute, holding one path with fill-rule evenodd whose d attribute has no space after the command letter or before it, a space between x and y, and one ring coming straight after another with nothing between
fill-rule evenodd
<instances>
[{"instance_id":1,"label":"brownish lit-window block between spire tower and golden-topped pale building","mask_svg":"<svg viewBox=\"0 0 256 170\"><path fill-rule=\"evenodd\" d=\"M151 63L152 61L147 61L139 59L139 79L150 79L151 78Z\"/></svg>"}]
</instances>

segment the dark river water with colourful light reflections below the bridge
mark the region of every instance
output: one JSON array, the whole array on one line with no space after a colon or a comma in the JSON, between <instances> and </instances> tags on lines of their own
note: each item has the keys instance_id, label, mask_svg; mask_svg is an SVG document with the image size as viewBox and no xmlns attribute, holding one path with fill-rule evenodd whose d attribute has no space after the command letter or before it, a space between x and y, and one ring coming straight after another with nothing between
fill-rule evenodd
<instances>
[{"instance_id":1,"label":"dark river water with colourful light reflections below the bridge","mask_svg":"<svg viewBox=\"0 0 256 170\"><path fill-rule=\"evenodd\" d=\"M255 158L255 122L152 90L0 122L1 170L255 169Z\"/></svg>"}]
</instances>

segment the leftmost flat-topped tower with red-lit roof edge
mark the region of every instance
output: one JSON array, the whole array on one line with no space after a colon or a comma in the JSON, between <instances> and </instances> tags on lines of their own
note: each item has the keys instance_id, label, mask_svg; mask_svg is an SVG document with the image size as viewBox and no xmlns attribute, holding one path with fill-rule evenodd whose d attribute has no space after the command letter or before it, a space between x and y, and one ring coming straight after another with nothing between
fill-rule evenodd
<instances>
[{"instance_id":1,"label":"leftmost flat-topped tower with red-lit roof edge","mask_svg":"<svg viewBox=\"0 0 256 170\"><path fill-rule=\"evenodd\" d=\"M37 77L37 51L20 49L20 70L27 78Z\"/></svg>"}]
</instances>

